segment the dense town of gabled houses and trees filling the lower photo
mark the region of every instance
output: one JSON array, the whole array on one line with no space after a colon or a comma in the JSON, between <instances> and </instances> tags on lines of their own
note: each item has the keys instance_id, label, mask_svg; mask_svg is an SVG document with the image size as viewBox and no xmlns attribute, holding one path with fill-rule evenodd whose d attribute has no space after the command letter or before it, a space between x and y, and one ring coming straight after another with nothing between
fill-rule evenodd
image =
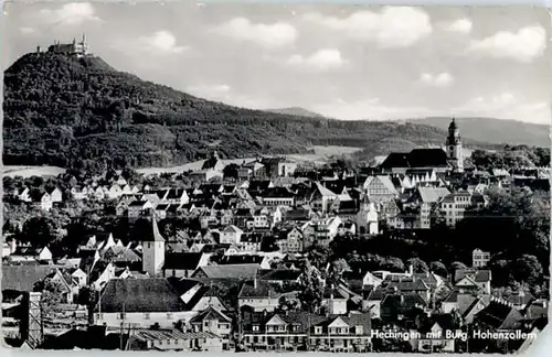
<instances>
[{"instance_id":1,"label":"dense town of gabled houses and trees filling the lower photo","mask_svg":"<svg viewBox=\"0 0 552 357\"><path fill-rule=\"evenodd\" d=\"M4 339L31 349L524 349L548 323L550 171L478 167L454 119L443 144L362 166L262 155L225 164L213 150L178 174L83 161L57 177L6 176Z\"/></svg>"}]
</instances>

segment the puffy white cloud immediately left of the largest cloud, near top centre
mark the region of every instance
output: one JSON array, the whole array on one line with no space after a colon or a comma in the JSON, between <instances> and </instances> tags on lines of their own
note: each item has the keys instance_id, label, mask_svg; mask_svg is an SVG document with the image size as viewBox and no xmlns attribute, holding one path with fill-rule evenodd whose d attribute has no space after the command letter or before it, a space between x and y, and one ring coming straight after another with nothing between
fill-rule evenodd
<instances>
[{"instance_id":1,"label":"puffy white cloud immediately left of the largest cloud, near top centre","mask_svg":"<svg viewBox=\"0 0 552 357\"><path fill-rule=\"evenodd\" d=\"M290 45L298 37L297 30L287 22L252 23L244 18L230 20L215 31L236 41L252 42L267 48Z\"/></svg>"}]
</instances>

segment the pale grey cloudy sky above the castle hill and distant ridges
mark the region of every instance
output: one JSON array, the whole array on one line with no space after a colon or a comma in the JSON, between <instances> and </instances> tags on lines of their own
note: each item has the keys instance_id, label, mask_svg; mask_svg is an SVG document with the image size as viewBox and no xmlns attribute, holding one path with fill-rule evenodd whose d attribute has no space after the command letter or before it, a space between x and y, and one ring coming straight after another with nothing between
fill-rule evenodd
<instances>
[{"instance_id":1,"label":"pale grey cloudy sky above the castle hill and distant ridges","mask_svg":"<svg viewBox=\"0 0 552 357\"><path fill-rule=\"evenodd\" d=\"M216 101L343 120L550 123L539 8L9 3L3 66L86 33L113 67Z\"/></svg>"}]
</instances>

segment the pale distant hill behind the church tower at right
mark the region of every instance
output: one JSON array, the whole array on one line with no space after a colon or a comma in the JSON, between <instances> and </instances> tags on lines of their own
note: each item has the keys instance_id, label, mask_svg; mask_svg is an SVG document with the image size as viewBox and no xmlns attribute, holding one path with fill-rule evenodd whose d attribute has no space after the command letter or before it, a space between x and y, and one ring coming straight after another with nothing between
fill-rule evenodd
<instances>
[{"instance_id":1,"label":"pale distant hill behind the church tower at right","mask_svg":"<svg viewBox=\"0 0 552 357\"><path fill-rule=\"evenodd\" d=\"M416 119L414 122L446 130L450 118ZM495 118L456 118L456 122L461 136L474 140L550 147L550 127L545 125Z\"/></svg>"}]
</instances>

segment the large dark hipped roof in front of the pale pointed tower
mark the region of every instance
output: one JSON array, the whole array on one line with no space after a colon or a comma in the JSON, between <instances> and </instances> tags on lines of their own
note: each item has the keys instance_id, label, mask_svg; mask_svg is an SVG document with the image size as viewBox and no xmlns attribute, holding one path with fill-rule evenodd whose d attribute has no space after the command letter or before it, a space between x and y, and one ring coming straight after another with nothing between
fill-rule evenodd
<instances>
[{"instance_id":1,"label":"large dark hipped roof in front of the pale pointed tower","mask_svg":"<svg viewBox=\"0 0 552 357\"><path fill-rule=\"evenodd\" d=\"M112 279L107 282L96 311L177 312L184 303L167 279Z\"/></svg>"}]
</instances>

